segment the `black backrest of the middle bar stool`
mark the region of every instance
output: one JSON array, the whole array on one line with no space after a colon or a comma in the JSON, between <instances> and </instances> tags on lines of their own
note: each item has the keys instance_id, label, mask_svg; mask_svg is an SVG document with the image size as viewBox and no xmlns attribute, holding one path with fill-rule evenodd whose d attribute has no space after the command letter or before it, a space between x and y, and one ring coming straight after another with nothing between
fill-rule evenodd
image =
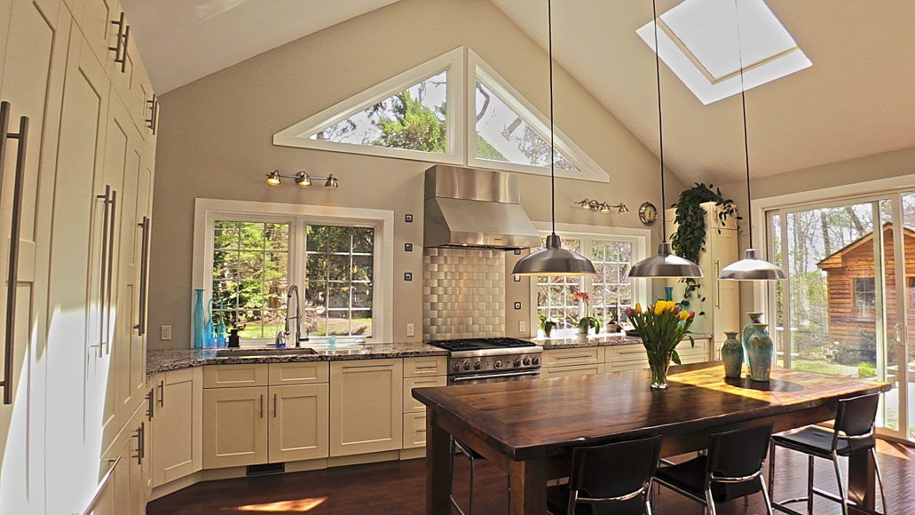
<instances>
[{"instance_id":1,"label":"black backrest of the middle bar stool","mask_svg":"<svg viewBox=\"0 0 915 515\"><path fill-rule=\"evenodd\" d=\"M709 438L706 478L740 478L759 474L769 454L772 424L716 433Z\"/></svg>"}]
</instances>

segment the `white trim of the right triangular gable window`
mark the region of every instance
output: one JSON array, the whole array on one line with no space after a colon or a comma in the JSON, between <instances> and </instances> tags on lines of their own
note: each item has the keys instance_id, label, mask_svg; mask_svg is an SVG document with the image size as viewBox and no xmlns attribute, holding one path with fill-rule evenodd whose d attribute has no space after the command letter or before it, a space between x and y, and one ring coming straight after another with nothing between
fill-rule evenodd
<instances>
[{"instance_id":1,"label":"white trim of the right triangular gable window","mask_svg":"<svg viewBox=\"0 0 915 515\"><path fill-rule=\"evenodd\" d=\"M524 121L531 125L531 128L540 134L546 141L550 140L550 120L544 113L541 113L528 102L524 95L518 90L511 87L508 80L505 80L496 70L493 70L479 55L472 49L468 48L468 73L467 73L467 164L479 168L490 168L496 170L508 170L511 172L521 172L524 174L535 174L548 176L550 168L548 166L531 166L519 165L517 163L504 163L501 161L491 161L488 159L477 158L477 80L485 84L490 91L499 96L502 102L508 104L511 109L519 113ZM581 180L591 180L597 182L609 182L610 176L597 161L588 156L584 150L572 142L561 129L555 126L554 144L556 150L562 153L570 163L578 168L575 170L563 170L556 168L557 177L576 178ZM473 145L471 145L473 143Z\"/></svg>"}]
</instances>

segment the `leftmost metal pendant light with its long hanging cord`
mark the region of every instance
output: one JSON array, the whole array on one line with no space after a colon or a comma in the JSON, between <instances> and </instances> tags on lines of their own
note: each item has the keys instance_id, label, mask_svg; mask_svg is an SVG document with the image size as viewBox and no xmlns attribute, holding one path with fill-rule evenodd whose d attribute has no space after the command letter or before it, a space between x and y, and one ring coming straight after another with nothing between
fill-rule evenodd
<instances>
[{"instance_id":1,"label":"leftmost metal pendant light with its long hanging cord","mask_svg":"<svg viewBox=\"0 0 915 515\"><path fill-rule=\"evenodd\" d=\"M550 51L550 209L552 212L553 231L546 237L546 248L532 252L515 263L514 275L593 275L597 274L594 264L585 256L567 251L556 234L556 147L553 136L553 5L546 2L548 20L548 38Z\"/></svg>"}]
</instances>

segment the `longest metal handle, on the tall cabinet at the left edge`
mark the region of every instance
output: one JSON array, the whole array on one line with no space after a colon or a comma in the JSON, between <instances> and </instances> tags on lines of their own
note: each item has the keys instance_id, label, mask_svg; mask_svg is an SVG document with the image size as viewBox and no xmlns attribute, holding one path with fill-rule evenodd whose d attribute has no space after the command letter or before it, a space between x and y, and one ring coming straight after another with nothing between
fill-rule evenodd
<instances>
[{"instance_id":1,"label":"longest metal handle, on the tall cabinet at the left edge","mask_svg":"<svg viewBox=\"0 0 915 515\"><path fill-rule=\"evenodd\" d=\"M13 361L16 338L16 286L18 284L17 273L19 270L19 235L21 233L22 218L22 195L25 188L26 176L26 149L28 146L28 117L19 118L19 132L7 133L9 126L9 102L0 102L0 183L3 181L3 167L5 162L6 140L19 140L19 148L16 150L16 176L13 186L13 220L12 229L10 230L9 241L9 274L6 285L6 327L4 339L4 367L3 381L0 385L4 387L3 403L13 403Z\"/></svg>"}]
</instances>

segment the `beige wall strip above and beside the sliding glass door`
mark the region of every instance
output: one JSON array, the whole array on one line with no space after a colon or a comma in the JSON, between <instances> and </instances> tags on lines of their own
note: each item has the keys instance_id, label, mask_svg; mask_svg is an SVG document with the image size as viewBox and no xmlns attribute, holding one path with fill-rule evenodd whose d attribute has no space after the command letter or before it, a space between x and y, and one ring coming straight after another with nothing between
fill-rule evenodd
<instances>
[{"instance_id":1,"label":"beige wall strip above and beside the sliding glass door","mask_svg":"<svg viewBox=\"0 0 915 515\"><path fill-rule=\"evenodd\" d=\"M813 166L778 174L770 177L760 177L751 182L753 199L780 197L792 193L814 192L824 188L835 188L848 185L857 185L915 174L915 147L905 148L894 152L885 152L874 156L859 157L829 165ZM915 181L911 184L915 187ZM745 220L740 223L740 249L747 247L748 231L746 220L747 190L746 183L736 182L723 186L722 193L726 197L737 201L738 209L743 213ZM857 193L867 194L867 187L862 186ZM823 199L828 199L828 192L823 192ZM756 220L754 228L762 227ZM740 310L742 313L755 311L752 284L741 284ZM742 316L743 317L743 316Z\"/></svg>"}]
</instances>

